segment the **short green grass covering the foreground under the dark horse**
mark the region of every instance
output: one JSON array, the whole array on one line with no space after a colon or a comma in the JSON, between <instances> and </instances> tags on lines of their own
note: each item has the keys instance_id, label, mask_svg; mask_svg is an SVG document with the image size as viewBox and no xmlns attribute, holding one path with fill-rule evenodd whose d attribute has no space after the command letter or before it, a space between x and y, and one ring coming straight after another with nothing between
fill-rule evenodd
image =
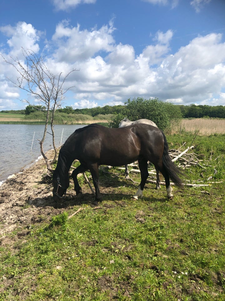
<instances>
[{"instance_id":1,"label":"short green grass covering the foreground under the dark horse","mask_svg":"<svg viewBox=\"0 0 225 301\"><path fill-rule=\"evenodd\" d=\"M168 136L171 148L192 140ZM50 224L32 225L22 243L0 246L0 300L225 300L225 140L196 137L193 144L208 166L186 169L186 180L203 173L207 183L215 168L211 181L222 183L174 187L172 201L164 186L148 183L144 198L131 200L135 183L116 168L101 171L108 191L98 209L84 194Z\"/></svg>"}]
</instances>

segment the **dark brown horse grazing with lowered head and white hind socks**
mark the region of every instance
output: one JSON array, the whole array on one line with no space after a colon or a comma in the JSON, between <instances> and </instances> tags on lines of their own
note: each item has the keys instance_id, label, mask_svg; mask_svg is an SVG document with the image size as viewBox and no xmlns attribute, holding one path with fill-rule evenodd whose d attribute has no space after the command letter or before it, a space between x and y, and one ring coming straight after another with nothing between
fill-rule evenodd
<instances>
[{"instance_id":1,"label":"dark brown horse grazing with lowered head and white hind socks","mask_svg":"<svg viewBox=\"0 0 225 301\"><path fill-rule=\"evenodd\" d=\"M59 151L58 163L53 172L53 198L58 200L69 187L68 173L73 161L80 166L73 172L76 195L82 193L77 175L90 170L95 187L95 202L100 201L99 165L123 166L138 160L141 182L133 198L143 196L148 177L148 161L152 162L165 178L167 197L173 198L170 179L179 187L178 167L168 153L168 143L163 132L149 124L135 124L123 128L110 129L98 124L90 124L77 129L66 140Z\"/></svg>"}]
</instances>

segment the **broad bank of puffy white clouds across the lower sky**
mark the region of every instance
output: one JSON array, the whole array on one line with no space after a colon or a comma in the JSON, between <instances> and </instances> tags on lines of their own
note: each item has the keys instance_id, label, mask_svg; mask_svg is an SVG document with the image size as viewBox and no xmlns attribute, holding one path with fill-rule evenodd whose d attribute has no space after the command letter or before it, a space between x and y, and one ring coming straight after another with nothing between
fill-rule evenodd
<instances>
[{"instance_id":1,"label":"broad bank of puffy white clouds across the lower sky","mask_svg":"<svg viewBox=\"0 0 225 301\"><path fill-rule=\"evenodd\" d=\"M27 30L26 30L27 29ZM15 57L21 51L21 39L39 50L37 30L31 24L1 28L10 37L10 49L3 55ZM221 34L198 36L176 53L171 52L173 31L158 31L152 45L135 55L132 45L116 43L113 23L92 30L72 27L68 22L57 25L48 49L47 66L54 73L67 74L73 68L64 88L72 87L66 105L76 99L73 108L93 108L99 105L121 104L128 98L143 96L174 100L174 103L222 102L225 82L225 43ZM35 46L36 45L36 46ZM55 47L55 48L54 48ZM18 89L8 78L15 78L15 70L0 59L0 91L2 99L17 97ZM21 95L21 93L20 93ZM19 97L17 97L19 98ZM26 98L23 96L20 98ZM16 108L15 108L16 109Z\"/></svg>"}]
</instances>

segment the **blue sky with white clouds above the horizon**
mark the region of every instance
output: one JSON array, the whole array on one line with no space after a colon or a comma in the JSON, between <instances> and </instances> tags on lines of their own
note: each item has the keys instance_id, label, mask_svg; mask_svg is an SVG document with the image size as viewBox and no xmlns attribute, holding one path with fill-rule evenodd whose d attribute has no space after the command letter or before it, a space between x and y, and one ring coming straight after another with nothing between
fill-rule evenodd
<instances>
[{"instance_id":1,"label":"blue sky with white clouds above the horizon","mask_svg":"<svg viewBox=\"0 0 225 301\"><path fill-rule=\"evenodd\" d=\"M1 0L0 111L37 100L4 62L22 48L64 82L62 106L129 98L225 105L225 0Z\"/></svg>"}]
</instances>

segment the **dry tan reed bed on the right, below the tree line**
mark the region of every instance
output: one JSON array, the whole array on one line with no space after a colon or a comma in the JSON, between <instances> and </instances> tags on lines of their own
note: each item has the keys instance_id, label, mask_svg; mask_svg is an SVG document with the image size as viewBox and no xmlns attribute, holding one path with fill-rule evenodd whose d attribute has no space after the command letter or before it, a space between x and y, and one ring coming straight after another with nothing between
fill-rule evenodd
<instances>
[{"instance_id":1,"label":"dry tan reed bed on the right, below the tree line","mask_svg":"<svg viewBox=\"0 0 225 301\"><path fill-rule=\"evenodd\" d=\"M198 135L225 134L225 119L182 119L181 124L174 124L172 134L179 132L198 132Z\"/></svg>"}]
</instances>

